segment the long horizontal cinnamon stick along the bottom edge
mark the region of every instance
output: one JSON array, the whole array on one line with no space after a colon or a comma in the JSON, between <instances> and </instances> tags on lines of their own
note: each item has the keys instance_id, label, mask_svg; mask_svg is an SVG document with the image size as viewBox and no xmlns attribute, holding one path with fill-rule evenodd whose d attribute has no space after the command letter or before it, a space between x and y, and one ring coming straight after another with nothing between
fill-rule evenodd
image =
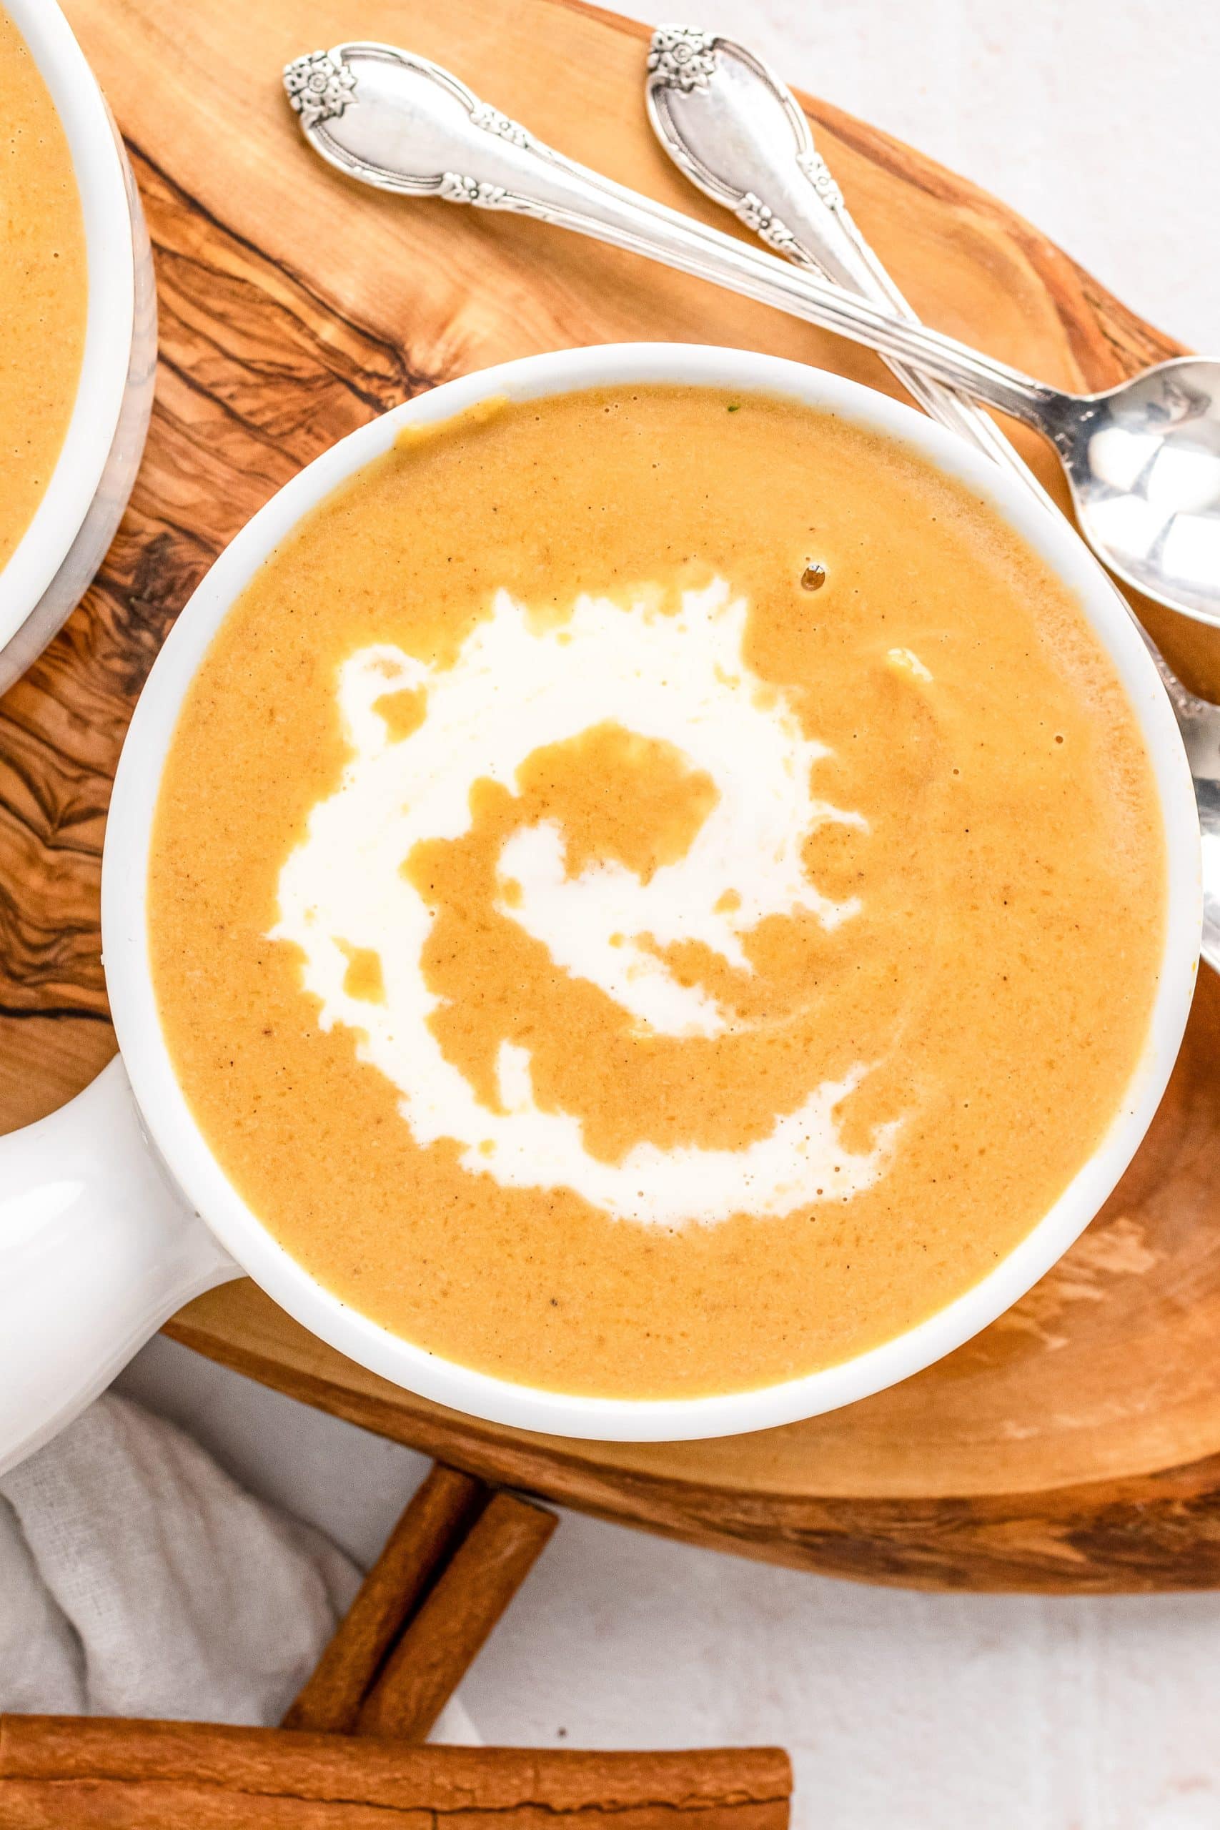
<instances>
[{"instance_id":1,"label":"long horizontal cinnamon stick along the bottom edge","mask_svg":"<svg viewBox=\"0 0 1220 1830\"><path fill-rule=\"evenodd\" d=\"M4 1830L785 1830L781 1748L582 1753L348 1735L0 1717ZM487 1819L494 1817L494 1826ZM680 1823L679 1823L680 1821Z\"/></svg>"}]
</instances>

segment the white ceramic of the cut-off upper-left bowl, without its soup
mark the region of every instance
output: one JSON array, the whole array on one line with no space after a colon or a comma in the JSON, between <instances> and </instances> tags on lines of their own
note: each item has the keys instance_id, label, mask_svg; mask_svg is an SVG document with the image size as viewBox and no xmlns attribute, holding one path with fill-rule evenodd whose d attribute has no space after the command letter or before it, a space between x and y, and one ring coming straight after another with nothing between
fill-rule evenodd
<instances>
[{"instance_id":1,"label":"white ceramic of the cut-off upper-left bowl, without its soup","mask_svg":"<svg viewBox=\"0 0 1220 1830\"><path fill-rule=\"evenodd\" d=\"M0 692L88 589L123 518L152 410L157 313L135 181L55 0L4 0L68 135L84 214L88 307L77 399L35 516L0 571Z\"/></svg>"}]
</instances>

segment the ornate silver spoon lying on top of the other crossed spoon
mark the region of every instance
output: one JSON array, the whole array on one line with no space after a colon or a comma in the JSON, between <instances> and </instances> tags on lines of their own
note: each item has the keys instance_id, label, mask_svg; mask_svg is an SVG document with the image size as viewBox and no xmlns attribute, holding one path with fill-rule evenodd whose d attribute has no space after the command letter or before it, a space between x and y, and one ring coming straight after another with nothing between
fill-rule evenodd
<instances>
[{"instance_id":1,"label":"ornate silver spoon lying on top of the other crossed spoon","mask_svg":"<svg viewBox=\"0 0 1220 1830\"><path fill-rule=\"evenodd\" d=\"M706 59L671 55L679 82L706 81ZM366 183L651 254L1024 419L1055 447L1097 556L1171 609L1220 624L1220 362L1180 357L1103 393L1065 393L563 159L410 51L340 44L289 64L284 81L322 157Z\"/></svg>"}]
</instances>

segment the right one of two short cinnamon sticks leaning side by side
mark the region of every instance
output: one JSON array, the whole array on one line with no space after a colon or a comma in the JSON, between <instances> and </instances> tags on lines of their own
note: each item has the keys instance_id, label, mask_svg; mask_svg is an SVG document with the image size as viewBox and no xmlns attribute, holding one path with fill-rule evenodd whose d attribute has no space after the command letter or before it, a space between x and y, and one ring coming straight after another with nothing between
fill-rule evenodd
<instances>
[{"instance_id":1,"label":"right one of two short cinnamon sticks leaning side by side","mask_svg":"<svg viewBox=\"0 0 1220 1830\"><path fill-rule=\"evenodd\" d=\"M556 1523L552 1512L510 1493L488 1501L390 1652L357 1735L428 1737Z\"/></svg>"}]
</instances>

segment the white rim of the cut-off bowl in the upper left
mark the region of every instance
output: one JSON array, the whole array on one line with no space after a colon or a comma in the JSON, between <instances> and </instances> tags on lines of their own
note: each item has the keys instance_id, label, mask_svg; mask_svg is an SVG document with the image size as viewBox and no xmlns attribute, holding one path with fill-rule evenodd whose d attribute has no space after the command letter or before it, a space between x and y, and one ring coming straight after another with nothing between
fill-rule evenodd
<instances>
[{"instance_id":1,"label":"white rim of the cut-off bowl in the upper left","mask_svg":"<svg viewBox=\"0 0 1220 1830\"><path fill-rule=\"evenodd\" d=\"M113 445L135 329L135 242L123 154L84 53L55 0L4 0L68 137L84 218L88 300L80 381L60 454L22 538L0 569L0 648L55 578Z\"/></svg>"}]
</instances>

